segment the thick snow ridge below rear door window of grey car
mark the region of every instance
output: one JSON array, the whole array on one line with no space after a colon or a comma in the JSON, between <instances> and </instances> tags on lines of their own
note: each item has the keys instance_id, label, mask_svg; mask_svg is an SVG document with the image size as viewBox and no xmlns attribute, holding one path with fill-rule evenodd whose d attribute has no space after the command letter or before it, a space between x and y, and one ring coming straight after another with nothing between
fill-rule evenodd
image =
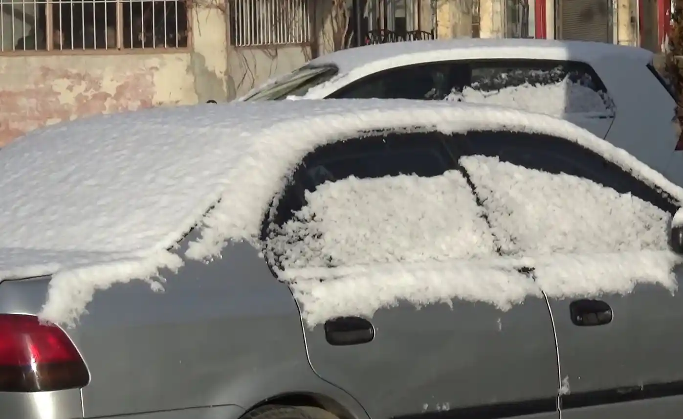
<instances>
[{"instance_id":1,"label":"thick snow ridge below rear door window of grey car","mask_svg":"<svg viewBox=\"0 0 683 419\"><path fill-rule=\"evenodd\" d=\"M417 306L452 304L451 299L482 301L501 310L540 297L533 278L512 265L486 262L427 262L357 265L337 269L288 269L281 273L301 303L309 327L337 316L372 316L380 308L407 300ZM322 281L321 281L322 280Z\"/></svg>"}]
</instances>

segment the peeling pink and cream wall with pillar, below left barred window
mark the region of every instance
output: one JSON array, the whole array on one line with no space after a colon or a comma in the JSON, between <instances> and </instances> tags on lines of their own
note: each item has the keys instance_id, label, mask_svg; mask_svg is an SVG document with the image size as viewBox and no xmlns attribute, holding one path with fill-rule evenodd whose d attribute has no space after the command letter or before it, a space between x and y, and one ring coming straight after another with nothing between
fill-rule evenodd
<instances>
[{"instance_id":1,"label":"peeling pink and cream wall with pillar, below left barred window","mask_svg":"<svg viewBox=\"0 0 683 419\"><path fill-rule=\"evenodd\" d=\"M225 100L225 16L195 10L193 27L192 51L0 55L0 146L79 116Z\"/></svg>"}]
</instances>

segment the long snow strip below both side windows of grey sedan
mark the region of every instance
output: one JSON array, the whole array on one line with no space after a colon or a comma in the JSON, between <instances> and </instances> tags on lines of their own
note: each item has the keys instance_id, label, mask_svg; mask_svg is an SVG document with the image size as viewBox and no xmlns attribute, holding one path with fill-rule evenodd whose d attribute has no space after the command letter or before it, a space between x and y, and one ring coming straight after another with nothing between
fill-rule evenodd
<instances>
[{"instance_id":1,"label":"long snow strip below both side windows of grey sedan","mask_svg":"<svg viewBox=\"0 0 683 419\"><path fill-rule=\"evenodd\" d=\"M314 327L337 316L370 317L400 300L424 306L460 299L507 311L542 293L559 299L626 295L636 284L658 284L673 293L678 284L671 267L680 262L672 252L643 251L295 268L281 277L290 283L307 326ZM518 271L530 266L533 275Z\"/></svg>"}]
</instances>

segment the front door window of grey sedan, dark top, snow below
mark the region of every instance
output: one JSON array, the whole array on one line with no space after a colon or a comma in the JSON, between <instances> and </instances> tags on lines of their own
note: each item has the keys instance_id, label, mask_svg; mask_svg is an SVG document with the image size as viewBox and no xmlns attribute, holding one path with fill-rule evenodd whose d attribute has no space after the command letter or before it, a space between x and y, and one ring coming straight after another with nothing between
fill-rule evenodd
<instances>
[{"instance_id":1,"label":"front door window of grey sedan, dark top, snow below","mask_svg":"<svg viewBox=\"0 0 683 419\"><path fill-rule=\"evenodd\" d=\"M456 141L504 254L667 248L675 202L600 155L547 135L478 132Z\"/></svg>"}]
</instances>

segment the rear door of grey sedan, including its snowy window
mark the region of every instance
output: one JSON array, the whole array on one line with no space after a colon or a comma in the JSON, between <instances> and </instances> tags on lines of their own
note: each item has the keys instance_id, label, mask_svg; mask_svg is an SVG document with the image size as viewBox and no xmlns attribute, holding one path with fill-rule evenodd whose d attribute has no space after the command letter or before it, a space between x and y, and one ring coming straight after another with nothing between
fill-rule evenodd
<instances>
[{"instance_id":1,"label":"rear door of grey sedan, including its snowy window","mask_svg":"<svg viewBox=\"0 0 683 419\"><path fill-rule=\"evenodd\" d=\"M302 268L292 289L311 366L372 418L557 418L555 336L542 296L524 298L533 281L494 284L494 274L468 278L434 262L494 252L477 241L488 232L443 139L374 133L323 146L285 189L270 237L291 234L271 246L300 256L288 263ZM292 228L305 215L318 236L302 240ZM320 230L326 220L338 231ZM503 311L472 302L479 292L518 292L523 303Z\"/></svg>"}]
</instances>

